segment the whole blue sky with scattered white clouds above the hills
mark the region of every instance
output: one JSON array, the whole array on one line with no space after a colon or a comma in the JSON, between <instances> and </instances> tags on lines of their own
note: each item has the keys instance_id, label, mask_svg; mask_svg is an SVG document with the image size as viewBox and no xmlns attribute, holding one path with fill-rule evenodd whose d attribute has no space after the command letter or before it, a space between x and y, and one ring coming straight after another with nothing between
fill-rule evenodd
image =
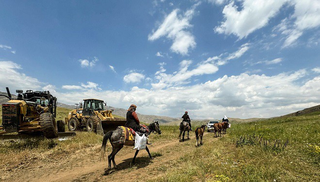
<instances>
[{"instance_id":1,"label":"whole blue sky with scattered white clouds above the hills","mask_svg":"<svg viewBox=\"0 0 320 182\"><path fill-rule=\"evenodd\" d=\"M5 87L144 115L286 115L320 104L320 1L1 0Z\"/></svg>"}]
</instances>

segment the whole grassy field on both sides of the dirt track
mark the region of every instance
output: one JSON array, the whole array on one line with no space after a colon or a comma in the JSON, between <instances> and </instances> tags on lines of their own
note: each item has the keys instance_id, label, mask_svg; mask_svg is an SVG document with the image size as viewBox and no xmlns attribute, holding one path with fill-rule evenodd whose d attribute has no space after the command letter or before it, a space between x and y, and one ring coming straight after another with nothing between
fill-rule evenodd
<instances>
[{"instance_id":1,"label":"whole grassy field on both sides of the dirt track","mask_svg":"<svg viewBox=\"0 0 320 182\"><path fill-rule=\"evenodd\" d=\"M57 118L62 119L68 111L58 109ZM207 134L204 136L205 145L192 147L192 150L184 151L177 161L162 164L155 171L161 175L152 181L320 181L319 123L320 112L232 124L227 134L218 140L206 142L206 137L213 136L212 133ZM161 126L161 131L161 135L152 136L152 142L176 139L179 134L176 126ZM24 159L26 154L47 160L41 158L43 153L64 155L77 149L99 148L101 142L102 136L88 132L77 132L74 138L65 141L32 139L0 142L0 168ZM194 146L194 142L186 142L185 145Z\"/></svg>"}]
</instances>

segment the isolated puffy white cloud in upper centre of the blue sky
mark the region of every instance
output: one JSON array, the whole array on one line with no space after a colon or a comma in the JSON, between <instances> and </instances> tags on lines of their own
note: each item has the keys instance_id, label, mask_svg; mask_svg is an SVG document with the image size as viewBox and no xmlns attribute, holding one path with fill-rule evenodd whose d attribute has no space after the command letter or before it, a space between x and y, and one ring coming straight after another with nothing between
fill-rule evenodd
<instances>
[{"instance_id":1,"label":"isolated puffy white cloud in upper centre of the blue sky","mask_svg":"<svg viewBox=\"0 0 320 182\"><path fill-rule=\"evenodd\" d=\"M162 24L156 31L148 35L148 40L154 41L162 36L166 36L173 41L171 50L187 55L190 49L195 48L196 43L192 33L188 31L192 27L190 20L194 16L195 8L200 4L196 3L192 8L184 14L179 15L179 9L173 10L167 17L164 18Z\"/></svg>"}]
</instances>

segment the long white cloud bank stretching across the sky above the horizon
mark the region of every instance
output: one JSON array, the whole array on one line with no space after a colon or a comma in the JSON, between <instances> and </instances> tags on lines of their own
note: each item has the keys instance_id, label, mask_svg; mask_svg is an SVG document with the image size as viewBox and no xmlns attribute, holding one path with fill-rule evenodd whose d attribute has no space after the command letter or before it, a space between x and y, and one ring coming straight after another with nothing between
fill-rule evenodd
<instances>
[{"instance_id":1,"label":"long white cloud bank stretching across the sky above the horizon","mask_svg":"<svg viewBox=\"0 0 320 182\"><path fill-rule=\"evenodd\" d=\"M186 71L188 76L207 71L207 66L199 65L190 69L191 65L190 60L182 61L176 74ZM37 79L26 76L21 70L20 65L11 61L0 62L0 90L4 91L6 86L11 90L50 90L60 102L66 104L78 103L85 98L103 99L108 105L118 108L128 108L135 103L138 105L137 112L146 115L181 117L188 110L192 119L221 119L224 115L239 118L272 117L320 104L320 76L307 79L305 76L308 75L308 70L305 69L273 76L246 73L230 77L225 75L206 83L165 86L165 89L135 86L129 91L109 91L98 89L97 83L87 82L81 83L80 87L83 89L67 90L64 93L56 90L54 85L40 83ZM320 71L319 67L312 70ZM161 74L163 73L159 75ZM173 76L175 75L171 75ZM301 80L304 80L303 83ZM64 85L64 89L67 86Z\"/></svg>"}]
</instances>

